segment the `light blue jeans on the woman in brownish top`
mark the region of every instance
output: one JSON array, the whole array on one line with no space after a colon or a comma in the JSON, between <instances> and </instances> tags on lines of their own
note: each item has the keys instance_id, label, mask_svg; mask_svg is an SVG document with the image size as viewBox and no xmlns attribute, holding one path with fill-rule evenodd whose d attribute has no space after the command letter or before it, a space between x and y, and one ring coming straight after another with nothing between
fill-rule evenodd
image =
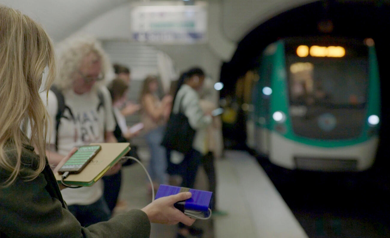
<instances>
[{"instance_id":1,"label":"light blue jeans on the woman in brownish top","mask_svg":"<svg viewBox=\"0 0 390 238\"><path fill-rule=\"evenodd\" d=\"M145 135L151 155L148 172L152 180L158 181L160 184L168 183L166 152L165 148L160 145L163 140L164 130L164 126L157 127Z\"/></svg>"}]
</instances>

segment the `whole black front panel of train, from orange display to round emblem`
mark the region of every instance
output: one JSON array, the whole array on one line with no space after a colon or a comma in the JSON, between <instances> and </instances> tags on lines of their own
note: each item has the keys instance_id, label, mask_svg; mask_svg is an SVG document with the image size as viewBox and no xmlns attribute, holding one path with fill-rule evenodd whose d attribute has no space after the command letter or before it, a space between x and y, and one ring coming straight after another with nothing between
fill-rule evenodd
<instances>
[{"instance_id":1,"label":"whole black front panel of train, from orange display to round emblem","mask_svg":"<svg viewBox=\"0 0 390 238\"><path fill-rule=\"evenodd\" d=\"M357 138L365 123L367 46L286 41L285 50L294 133L315 139Z\"/></svg>"}]
</instances>

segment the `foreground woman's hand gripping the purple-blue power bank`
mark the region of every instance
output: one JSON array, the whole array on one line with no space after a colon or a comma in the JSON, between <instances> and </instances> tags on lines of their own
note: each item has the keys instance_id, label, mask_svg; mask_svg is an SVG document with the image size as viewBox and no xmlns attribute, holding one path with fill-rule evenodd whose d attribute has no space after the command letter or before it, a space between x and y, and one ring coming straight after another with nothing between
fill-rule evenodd
<instances>
[{"instance_id":1,"label":"foreground woman's hand gripping the purple-blue power bank","mask_svg":"<svg viewBox=\"0 0 390 238\"><path fill-rule=\"evenodd\" d=\"M195 219L187 217L173 205L192 196L190 192L181 192L176 195L160 197L141 210L144 211L152 223L174 225L179 222L191 226Z\"/></svg>"}]
</instances>

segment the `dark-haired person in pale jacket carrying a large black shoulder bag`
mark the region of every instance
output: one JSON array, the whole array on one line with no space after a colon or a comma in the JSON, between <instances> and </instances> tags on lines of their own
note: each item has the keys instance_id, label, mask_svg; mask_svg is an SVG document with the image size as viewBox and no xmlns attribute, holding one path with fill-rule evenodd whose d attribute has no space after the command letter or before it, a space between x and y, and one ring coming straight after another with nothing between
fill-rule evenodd
<instances>
[{"instance_id":1,"label":"dark-haired person in pale jacket carrying a large black shoulder bag","mask_svg":"<svg viewBox=\"0 0 390 238\"><path fill-rule=\"evenodd\" d=\"M177 84L172 113L181 111L188 118L192 129L195 130L192 148L186 154L168 151L168 166L179 170L183 181L180 187L193 188L198 167L202 156L207 153L206 136L207 127L212 123L211 110L206 113L200 106L199 91L202 89L205 79L204 71L200 68L192 68L183 73ZM167 132L169 133L169 132ZM188 234L199 236L203 231L195 227L187 227L179 224L177 238L186 237Z\"/></svg>"}]
</instances>

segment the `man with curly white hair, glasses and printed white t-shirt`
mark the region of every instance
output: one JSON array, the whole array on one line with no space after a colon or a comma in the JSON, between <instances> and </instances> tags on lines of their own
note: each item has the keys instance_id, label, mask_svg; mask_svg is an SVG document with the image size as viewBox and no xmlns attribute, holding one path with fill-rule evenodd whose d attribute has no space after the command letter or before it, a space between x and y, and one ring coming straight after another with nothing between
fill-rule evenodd
<instances>
[{"instance_id":1,"label":"man with curly white hair, glasses and printed white t-shirt","mask_svg":"<svg viewBox=\"0 0 390 238\"><path fill-rule=\"evenodd\" d=\"M95 39L86 36L68 38L60 43L59 49L59 75L55 88L48 94L47 104L53 125L48 159L54 163L73 147L117 142L113 135L115 120L110 94L102 85L110 67L103 49ZM60 104L64 105L63 109ZM110 219L102 180L91 187L64 189L62 196L82 226Z\"/></svg>"}]
</instances>

